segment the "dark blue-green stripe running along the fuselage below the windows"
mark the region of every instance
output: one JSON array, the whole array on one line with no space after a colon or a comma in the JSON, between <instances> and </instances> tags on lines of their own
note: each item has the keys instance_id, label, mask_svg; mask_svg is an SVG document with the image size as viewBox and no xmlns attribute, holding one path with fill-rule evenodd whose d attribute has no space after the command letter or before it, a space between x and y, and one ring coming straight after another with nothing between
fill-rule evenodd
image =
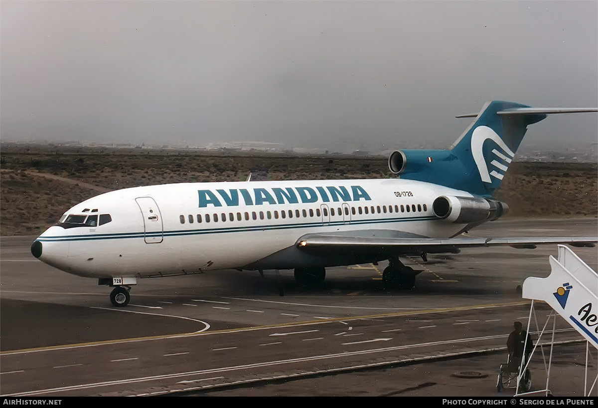
<instances>
[{"instance_id":1,"label":"dark blue-green stripe running along the fuselage below the windows","mask_svg":"<svg viewBox=\"0 0 598 408\"><path fill-rule=\"evenodd\" d=\"M425 221L437 220L436 217L413 217L413 218L379 218L377 220L357 220L343 223L342 220L331 221L330 223L301 223L301 224L270 224L257 226L242 226L242 227L225 227L202 230L173 230L173 231L158 231L158 232L127 232L118 234L95 234L95 235L65 235L65 236L47 236L38 238L41 242L63 242L63 241L83 241L96 239L126 239L126 238L147 238L160 236L185 236L185 235L206 235L206 234L220 234L229 232L251 232L251 231L265 231L265 230L286 230L286 229L303 229L309 227L328 227L341 225L366 225L366 224L388 224L408 221ZM233 221L235 222L235 221ZM236 221L236 222L250 222L250 221Z\"/></svg>"}]
</instances>

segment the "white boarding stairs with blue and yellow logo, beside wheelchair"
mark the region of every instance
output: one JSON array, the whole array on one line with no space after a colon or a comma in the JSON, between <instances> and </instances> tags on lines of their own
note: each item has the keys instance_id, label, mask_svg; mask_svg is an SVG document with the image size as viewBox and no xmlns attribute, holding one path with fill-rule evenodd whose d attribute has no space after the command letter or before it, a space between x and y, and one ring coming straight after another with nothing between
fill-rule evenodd
<instances>
[{"instance_id":1,"label":"white boarding stairs with blue and yellow logo, beside wheelchair","mask_svg":"<svg viewBox=\"0 0 598 408\"><path fill-rule=\"evenodd\" d=\"M530 277L523 282L522 296L524 299L532 300L529 319L527 320L527 333L530 333L532 314L539 333L538 340L532 349L532 355L539 348L547 370L546 388L540 391L527 392L526 394L544 393L550 395L548 383L550 382L554 331L558 313L586 340L584 395L598 395L598 374L593 378L588 378L588 367L593 365L595 368L596 358L598 357L598 275L565 245L559 245L558 258L555 259L551 255L549 261L551 266L550 276L547 278ZM538 318L535 315L534 302L536 301L546 302L554 310L548 315L541 330L539 329ZM553 322L552 331L547 329L551 319ZM541 342L543 334L552 335L550 342ZM550 346L548 361L544 351L546 346ZM532 360L532 358L529 358L529 360ZM525 367L522 364L520 373L525 372L529 360ZM517 388L515 395L523 395L517 394L518 391L520 390Z\"/></svg>"}]
</instances>

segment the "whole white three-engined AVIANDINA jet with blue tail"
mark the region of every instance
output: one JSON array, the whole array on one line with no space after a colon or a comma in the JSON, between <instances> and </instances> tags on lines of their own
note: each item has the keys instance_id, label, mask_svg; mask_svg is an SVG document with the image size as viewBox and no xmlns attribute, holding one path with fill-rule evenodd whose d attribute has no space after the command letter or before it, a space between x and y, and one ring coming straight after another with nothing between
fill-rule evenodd
<instances>
[{"instance_id":1,"label":"whole white three-engined AVIANDINA jet with blue tail","mask_svg":"<svg viewBox=\"0 0 598 408\"><path fill-rule=\"evenodd\" d=\"M593 246L596 237L461 238L508 211L493 199L529 124L595 108L531 108L493 101L449 150L402 150L392 179L246 181L152 185L75 205L31 246L39 260L114 287L130 301L137 278L216 269L294 269L317 284L325 268L389 260L387 288L413 288L399 256L466 246Z\"/></svg>"}]
</instances>

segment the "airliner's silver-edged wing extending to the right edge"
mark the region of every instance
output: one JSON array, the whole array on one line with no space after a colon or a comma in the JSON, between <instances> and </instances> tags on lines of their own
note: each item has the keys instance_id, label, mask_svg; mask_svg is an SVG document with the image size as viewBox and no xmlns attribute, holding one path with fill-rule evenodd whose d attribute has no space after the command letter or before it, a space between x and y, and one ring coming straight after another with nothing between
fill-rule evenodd
<instances>
[{"instance_id":1,"label":"airliner's silver-edged wing extending to the right edge","mask_svg":"<svg viewBox=\"0 0 598 408\"><path fill-rule=\"evenodd\" d=\"M572 246L594 246L598 237L532 237L532 238L394 238L307 234L295 245L303 251L364 251L380 254L458 253L460 248L507 245L513 248L536 248L537 245L566 243Z\"/></svg>"}]
</instances>

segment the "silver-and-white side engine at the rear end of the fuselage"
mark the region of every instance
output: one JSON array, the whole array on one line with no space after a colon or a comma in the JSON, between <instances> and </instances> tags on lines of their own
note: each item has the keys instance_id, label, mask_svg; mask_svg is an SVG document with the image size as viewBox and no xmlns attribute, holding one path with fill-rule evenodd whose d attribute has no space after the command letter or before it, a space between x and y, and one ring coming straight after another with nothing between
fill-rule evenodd
<instances>
[{"instance_id":1,"label":"silver-and-white side engine at the rear end of the fuselage","mask_svg":"<svg viewBox=\"0 0 598 408\"><path fill-rule=\"evenodd\" d=\"M507 214L509 206L483 197L440 196L432 203L432 211L449 223L469 224L494 221Z\"/></svg>"}]
</instances>

